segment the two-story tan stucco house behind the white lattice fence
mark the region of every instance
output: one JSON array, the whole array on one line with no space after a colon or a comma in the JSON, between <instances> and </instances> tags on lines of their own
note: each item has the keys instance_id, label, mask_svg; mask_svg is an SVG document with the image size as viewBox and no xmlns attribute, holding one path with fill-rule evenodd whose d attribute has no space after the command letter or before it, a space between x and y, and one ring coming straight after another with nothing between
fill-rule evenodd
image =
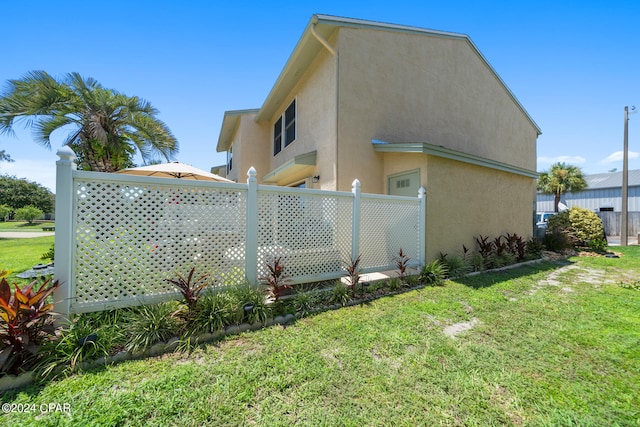
<instances>
[{"instance_id":1,"label":"two-story tan stucco house behind the white lattice fence","mask_svg":"<svg viewBox=\"0 0 640 427\"><path fill-rule=\"evenodd\" d=\"M229 179L417 195L427 259L531 236L540 129L464 34L314 15L261 108L225 112Z\"/></svg>"}]
</instances>

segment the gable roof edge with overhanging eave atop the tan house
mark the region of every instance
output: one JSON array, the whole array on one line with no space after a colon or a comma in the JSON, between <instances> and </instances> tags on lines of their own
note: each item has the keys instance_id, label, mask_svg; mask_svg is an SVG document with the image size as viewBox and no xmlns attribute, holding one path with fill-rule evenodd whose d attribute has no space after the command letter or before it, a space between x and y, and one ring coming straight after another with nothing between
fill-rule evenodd
<instances>
[{"instance_id":1,"label":"gable roof edge with overhanging eave atop the tan house","mask_svg":"<svg viewBox=\"0 0 640 427\"><path fill-rule=\"evenodd\" d=\"M411 27L406 25L387 24L382 22L365 21L361 19L341 18L330 15L313 15L311 20L307 24L302 36L298 40L293 53L287 60L282 72L278 76L273 88L267 95L267 99L260 108L255 120L256 122L270 120L276 113L276 109L284 101L284 98L291 92L298 79L302 77L302 74L309 67L313 59L316 57L320 50L324 49L322 44L315 38L313 31L319 34L325 40L328 39L331 34L339 27L350 28L366 28L372 30L384 30L408 34L416 34L428 37L438 38L451 38L465 41L469 47L478 55L478 57L484 62L489 71L495 76L498 82L502 85L507 94L513 99L515 104L520 108L524 116L536 129L538 135L542 132L540 127L531 118L529 113L524 109L520 101L515 97L511 90L507 87L504 81L500 78L498 73L493 69L489 61L482 55L480 50L471 41L471 38L466 34L449 33L444 31L429 30L419 27Z\"/></svg>"}]
</instances>

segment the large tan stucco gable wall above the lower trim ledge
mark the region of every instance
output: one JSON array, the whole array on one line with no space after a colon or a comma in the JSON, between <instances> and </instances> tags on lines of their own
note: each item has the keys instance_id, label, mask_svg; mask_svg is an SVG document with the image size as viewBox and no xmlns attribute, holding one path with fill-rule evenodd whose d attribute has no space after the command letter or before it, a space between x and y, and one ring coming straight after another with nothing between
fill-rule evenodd
<instances>
[{"instance_id":1,"label":"large tan stucco gable wall above the lower trim ledge","mask_svg":"<svg viewBox=\"0 0 640 427\"><path fill-rule=\"evenodd\" d=\"M340 28L338 52L339 189L357 171L363 191L384 191L372 138L536 169L535 127L466 41Z\"/></svg>"}]
</instances>

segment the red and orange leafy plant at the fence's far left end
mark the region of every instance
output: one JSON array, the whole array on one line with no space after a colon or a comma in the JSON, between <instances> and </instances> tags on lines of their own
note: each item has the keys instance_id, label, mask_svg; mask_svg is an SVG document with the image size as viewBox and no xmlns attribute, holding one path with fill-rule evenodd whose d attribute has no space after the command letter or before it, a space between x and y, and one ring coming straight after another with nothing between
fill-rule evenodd
<instances>
[{"instance_id":1,"label":"red and orange leafy plant at the fence's far left end","mask_svg":"<svg viewBox=\"0 0 640 427\"><path fill-rule=\"evenodd\" d=\"M47 298L60 284L45 281L38 290L37 281L24 288L0 280L0 372L18 373L23 364L36 353L36 346L53 333L53 304Z\"/></svg>"}]
</instances>

